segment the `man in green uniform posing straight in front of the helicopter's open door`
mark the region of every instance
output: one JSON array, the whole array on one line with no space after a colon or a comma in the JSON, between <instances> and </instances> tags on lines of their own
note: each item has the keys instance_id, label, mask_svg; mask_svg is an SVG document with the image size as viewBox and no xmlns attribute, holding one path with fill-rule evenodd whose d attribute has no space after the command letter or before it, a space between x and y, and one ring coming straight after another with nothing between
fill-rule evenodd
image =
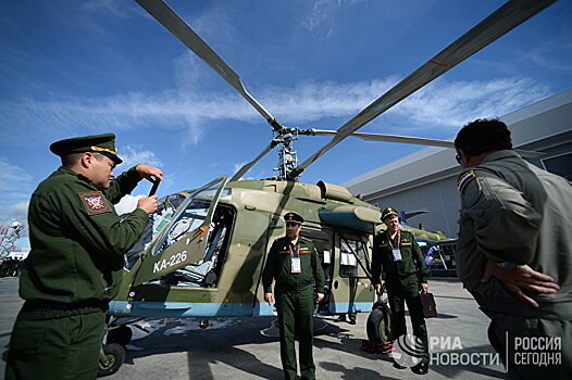
<instances>
[{"instance_id":1,"label":"man in green uniform posing straight in front of the helicopter's open door","mask_svg":"<svg viewBox=\"0 0 572 380\"><path fill-rule=\"evenodd\" d=\"M300 237L303 218L287 213L286 236L274 241L262 273L264 301L274 302L281 332L281 358L284 378L296 379L296 349L294 337L300 342L300 373L302 379L314 379L315 366L312 357L314 289L315 300L324 297L324 271L320 257L310 239ZM274 294L272 281L275 280Z\"/></svg>"}]
</instances>

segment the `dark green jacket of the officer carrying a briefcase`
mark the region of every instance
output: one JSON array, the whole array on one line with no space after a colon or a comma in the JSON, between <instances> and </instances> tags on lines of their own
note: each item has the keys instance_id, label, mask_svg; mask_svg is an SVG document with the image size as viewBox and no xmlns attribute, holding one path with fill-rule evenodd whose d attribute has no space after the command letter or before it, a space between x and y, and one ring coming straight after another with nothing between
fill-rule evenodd
<instances>
[{"instance_id":1,"label":"dark green jacket of the officer carrying a briefcase","mask_svg":"<svg viewBox=\"0 0 572 380\"><path fill-rule=\"evenodd\" d=\"M422 283L427 283L428 269L421 249L413 236L413 232L400 229L401 240L399 249L401 251L401 261L395 262L391 246L389 245L389 236L381 231L373 239L372 252L372 281L373 283L382 282L383 278L388 282L396 282L400 278L419 271L419 278ZM396 237L397 239L397 237ZM397 248L397 242L391 242Z\"/></svg>"}]
</instances>

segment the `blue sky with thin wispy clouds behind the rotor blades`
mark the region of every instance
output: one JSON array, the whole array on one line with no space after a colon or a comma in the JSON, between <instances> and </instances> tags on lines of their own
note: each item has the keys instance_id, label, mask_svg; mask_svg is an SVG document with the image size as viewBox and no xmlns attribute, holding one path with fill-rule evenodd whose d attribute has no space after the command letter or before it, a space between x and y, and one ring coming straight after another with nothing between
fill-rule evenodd
<instances>
[{"instance_id":1,"label":"blue sky with thin wispy clouds behind the rotor blades","mask_svg":"<svg viewBox=\"0 0 572 380\"><path fill-rule=\"evenodd\" d=\"M282 124L337 129L503 2L167 3ZM571 83L572 1L561 0L360 131L448 139ZM232 176L272 139L240 96L130 0L0 2L0 225L26 224L32 192L60 164L48 149L60 139L114 132L125 161L116 174L161 167L159 195ZM328 141L300 137L299 162ZM341 183L422 148L348 138L300 180ZM244 178L271 177L276 164L274 151Z\"/></svg>"}]
</instances>

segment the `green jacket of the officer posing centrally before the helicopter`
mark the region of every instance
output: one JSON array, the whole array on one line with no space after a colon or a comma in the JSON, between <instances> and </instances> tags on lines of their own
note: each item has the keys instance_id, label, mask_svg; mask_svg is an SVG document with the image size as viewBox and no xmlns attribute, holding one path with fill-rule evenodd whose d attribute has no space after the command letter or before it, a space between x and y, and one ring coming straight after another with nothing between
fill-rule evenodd
<instances>
[{"instance_id":1,"label":"green jacket of the officer posing centrally before the helicopter","mask_svg":"<svg viewBox=\"0 0 572 380\"><path fill-rule=\"evenodd\" d=\"M294 256L300 256L299 274L291 273L290 250ZM272 280L276 280L276 289L281 291L303 290L315 281L316 292L324 293L324 270L310 239L300 237L296 246L288 237L274 241L262 273L264 293L272 293Z\"/></svg>"}]
</instances>

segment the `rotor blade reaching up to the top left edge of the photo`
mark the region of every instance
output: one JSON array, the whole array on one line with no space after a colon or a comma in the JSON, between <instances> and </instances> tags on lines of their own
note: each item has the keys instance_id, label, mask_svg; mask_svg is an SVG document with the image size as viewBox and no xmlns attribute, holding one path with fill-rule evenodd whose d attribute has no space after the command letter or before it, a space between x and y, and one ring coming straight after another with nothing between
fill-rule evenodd
<instances>
[{"instance_id":1,"label":"rotor blade reaching up to the top left edge of the photo","mask_svg":"<svg viewBox=\"0 0 572 380\"><path fill-rule=\"evenodd\" d=\"M282 126L243 86L240 76L216 54L211 47L192 30L167 4L162 0L135 0L150 15L160 22L169 31L187 46L204 63L211 66L228 85L243 96L265 119L277 130Z\"/></svg>"}]
</instances>

